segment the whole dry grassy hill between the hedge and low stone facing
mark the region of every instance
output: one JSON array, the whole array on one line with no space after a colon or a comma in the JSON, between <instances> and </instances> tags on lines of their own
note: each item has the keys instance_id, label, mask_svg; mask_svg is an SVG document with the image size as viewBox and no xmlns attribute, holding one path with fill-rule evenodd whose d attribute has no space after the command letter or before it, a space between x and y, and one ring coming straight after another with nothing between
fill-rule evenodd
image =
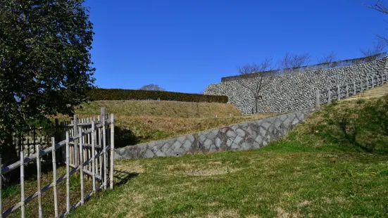
<instances>
[{"instance_id":1,"label":"whole dry grassy hill between the hedge and low stone facing","mask_svg":"<svg viewBox=\"0 0 388 218\"><path fill-rule=\"evenodd\" d=\"M243 116L232 104L177 101L92 101L78 108L76 114L80 117L98 116L100 108L115 114L116 147L168 139L275 115L261 113Z\"/></svg>"}]
</instances>

